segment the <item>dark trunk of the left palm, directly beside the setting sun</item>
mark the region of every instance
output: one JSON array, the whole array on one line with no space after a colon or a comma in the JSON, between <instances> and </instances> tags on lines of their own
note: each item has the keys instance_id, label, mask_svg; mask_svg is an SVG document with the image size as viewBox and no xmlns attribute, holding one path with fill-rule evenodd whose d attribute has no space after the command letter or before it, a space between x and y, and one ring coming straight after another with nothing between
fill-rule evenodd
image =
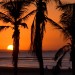
<instances>
[{"instance_id":1,"label":"dark trunk of the left palm, directly beside the setting sun","mask_svg":"<svg viewBox=\"0 0 75 75\"><path fill-rule=\"evenodd\" d=\"M15 25L14 34L13 34L13 66L14 66L14 75L17 75L18 71L18 53L19 53L19 30L18 26Z\"/></svg>"}]
</instances>

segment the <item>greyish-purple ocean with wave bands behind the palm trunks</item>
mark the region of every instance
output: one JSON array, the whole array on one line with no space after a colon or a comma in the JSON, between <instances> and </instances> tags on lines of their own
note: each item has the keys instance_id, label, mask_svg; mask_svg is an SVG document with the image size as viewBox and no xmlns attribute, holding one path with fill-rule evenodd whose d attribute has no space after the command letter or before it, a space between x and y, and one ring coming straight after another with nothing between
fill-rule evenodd
<instances>
[{"instance_id":1,"label":"greyish-purple ocean with wave bands behind the palm trunks","mask_svg":"<svg viewBox=\"0 0 75 75\"><path fill-rule=\"evenodd\" d=\"M44 51L43 52L43 61L44 68L51 69L56 65L56 62L53 60L56 51ZM72 63L69 61L69 53L67 53L62 61L62 69L72 68ZM12 65L12 52L9 51L0 51L0 66L1 67L13 67ZM18 67L33 67L39 68L39 64L35 56L27 51L20 51L18 58Z\"/></svg>"}]
</instances>

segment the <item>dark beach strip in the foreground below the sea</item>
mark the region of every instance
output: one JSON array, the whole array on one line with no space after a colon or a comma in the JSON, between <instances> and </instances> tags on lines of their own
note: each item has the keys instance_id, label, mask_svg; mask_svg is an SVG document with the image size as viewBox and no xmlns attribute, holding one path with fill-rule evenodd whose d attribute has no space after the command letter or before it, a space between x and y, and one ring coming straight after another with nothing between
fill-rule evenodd
<instances>
[{"instance_id":1,"label":"dark beach strip in the foreground below the sea","mask_svg":"<svg viewBox=\"0 0 75 75\"><path fill-rule=\"evenodd\" d=\"M0 67L0 75L14 75L12 67ZM38 68L18 68L18 75L40 75ZM51 69L45 69L45 75L53 75ZM71 69L62 69L58 75L72 75Z\"/></svg>"}]
</instances>

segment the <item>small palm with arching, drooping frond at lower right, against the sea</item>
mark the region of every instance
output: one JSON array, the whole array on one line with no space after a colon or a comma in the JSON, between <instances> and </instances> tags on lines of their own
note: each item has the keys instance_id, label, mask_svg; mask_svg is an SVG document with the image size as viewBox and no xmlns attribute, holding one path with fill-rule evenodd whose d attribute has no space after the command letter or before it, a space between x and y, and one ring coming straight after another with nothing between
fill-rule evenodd
<instances>
[{"instance_id":1,"label":"small palm with arching, drooping frond at lower right, against the sea","mask_svg":"<svg viewBox=\"0 0 75 75\"><path fill-rule=\"evenodd\" d=\"M67 43L67 45L61 47L55 54L54 60L57 62L56 65L52 68L53 75L58 75L60 73L60 69L62 67L62 60L65 57L66 53L70 52L71 54L71 44ZM71 58L70 58L71 61Z\"/></svg>"}]
</instances>

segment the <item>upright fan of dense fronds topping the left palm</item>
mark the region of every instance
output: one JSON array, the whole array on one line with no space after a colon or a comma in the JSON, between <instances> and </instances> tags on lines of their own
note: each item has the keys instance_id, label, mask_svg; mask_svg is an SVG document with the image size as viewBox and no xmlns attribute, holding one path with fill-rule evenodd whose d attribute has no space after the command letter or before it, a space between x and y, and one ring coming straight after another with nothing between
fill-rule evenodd
<instances>
[{"instance_id":1,"label":"upright fan of dense fronds topping the left palm","mask_svg":"<svg viewBox=\"0 0 75 75\"><path fill-rule=\"evenodd\" d=\"M10 16L12 16L14 19L17 19L25 12L26 8L24 8L24 6L28 4L30 4L30 1L9 1L5 3L2 7L8 10Z\"/></svg>"}]
</instances>

